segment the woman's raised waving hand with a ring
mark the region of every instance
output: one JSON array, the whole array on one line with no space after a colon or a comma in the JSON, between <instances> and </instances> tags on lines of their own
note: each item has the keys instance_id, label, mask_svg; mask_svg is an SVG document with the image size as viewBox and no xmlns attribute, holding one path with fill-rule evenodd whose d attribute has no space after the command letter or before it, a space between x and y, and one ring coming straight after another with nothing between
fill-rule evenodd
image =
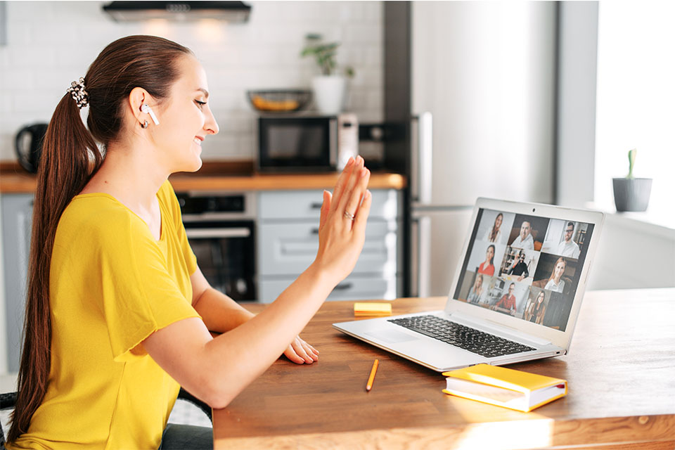
<instances>
[{"instance_id":1,"label":"woman's raised waving hand with a ring","mask_svg":"<svg viewBox=\"0 0 675 450\"><path fill-rule=\"evenodd\" d=\"M364 248L373 197L366 189L370 176L371 172L364 167L364 158L349 158L333 194L323 191L319 252L314 264L335 285L352 272Z\"/></svg>"}]
</instances>

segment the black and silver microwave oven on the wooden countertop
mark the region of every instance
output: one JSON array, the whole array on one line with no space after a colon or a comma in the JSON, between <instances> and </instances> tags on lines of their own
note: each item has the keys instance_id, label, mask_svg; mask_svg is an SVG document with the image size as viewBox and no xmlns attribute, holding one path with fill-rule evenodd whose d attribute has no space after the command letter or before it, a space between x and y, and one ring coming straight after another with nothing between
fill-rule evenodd
<instances>
[{"instance_id":1,"label":"black and silver microwave oven on the wooden countertop","mask_svg":"<svg viewBox=\"0 0 675 450\"><path fill-rule=\"evenodd\" d=\"M358 151L359 122L354 114L258 118L259 172L342 170Z\"/></svg>"}]
</instances>

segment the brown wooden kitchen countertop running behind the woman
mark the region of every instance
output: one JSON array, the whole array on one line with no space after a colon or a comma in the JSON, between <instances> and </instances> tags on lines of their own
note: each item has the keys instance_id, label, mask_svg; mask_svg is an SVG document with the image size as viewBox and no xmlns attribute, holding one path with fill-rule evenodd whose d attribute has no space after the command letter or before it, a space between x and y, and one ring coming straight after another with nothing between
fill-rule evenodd
<instances>
[{"instance_id":1,"label":"brown wooden kitchen countertop running behind the woman","mask_svg":"<svg viewBox=\"0 0 675 450\"><path fill-rule=\"evenodd\" d=\"M174 191L280 191L332 189L339 173L257 174L252 163L205 162L194 174L169 176ZM403 189L406 177L390 172L372 172L368 188ZM37 179L13 162L0 163L0 193L33 193Z\"/></svg>"}]
</instances>

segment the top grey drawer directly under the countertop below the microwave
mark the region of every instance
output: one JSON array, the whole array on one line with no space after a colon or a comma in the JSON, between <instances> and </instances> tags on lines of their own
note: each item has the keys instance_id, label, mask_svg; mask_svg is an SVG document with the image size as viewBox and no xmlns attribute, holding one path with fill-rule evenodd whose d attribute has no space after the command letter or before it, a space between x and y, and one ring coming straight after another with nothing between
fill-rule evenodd
<instances>
[{"instance_id":1,"label":"top grey drawer directly under the countertop below the microwave","mask_svg":"<svg viewBox=\"0 0 675 450\"><path fill-rule=\"evenodd\" d=\"M315 219L319 223L323 191L262 192L258 198L258 217L262 220ZM395 189L375 189L370 218L396 219L399 195Z\"/></svg>"}]
</instances>

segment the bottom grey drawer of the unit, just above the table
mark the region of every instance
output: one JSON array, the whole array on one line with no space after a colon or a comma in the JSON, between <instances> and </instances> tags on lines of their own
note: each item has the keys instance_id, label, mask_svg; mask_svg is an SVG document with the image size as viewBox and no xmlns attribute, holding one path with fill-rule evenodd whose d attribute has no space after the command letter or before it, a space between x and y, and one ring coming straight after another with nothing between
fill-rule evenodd
<instances>
[{"instance_id":1,"label":"bottom grey drawer of the unit, just above the table","mask_svg":"<svg viewBox=\"0 0 675 450\"><path fill-rule=\"evenodd\" d=\"M261 280L258 286L258 299L262 303L276 300L295 278ZM327 300L394 300L397 297L397 277L358 276L352 274L338 284Z\"/></svg>"}]
</instances>

